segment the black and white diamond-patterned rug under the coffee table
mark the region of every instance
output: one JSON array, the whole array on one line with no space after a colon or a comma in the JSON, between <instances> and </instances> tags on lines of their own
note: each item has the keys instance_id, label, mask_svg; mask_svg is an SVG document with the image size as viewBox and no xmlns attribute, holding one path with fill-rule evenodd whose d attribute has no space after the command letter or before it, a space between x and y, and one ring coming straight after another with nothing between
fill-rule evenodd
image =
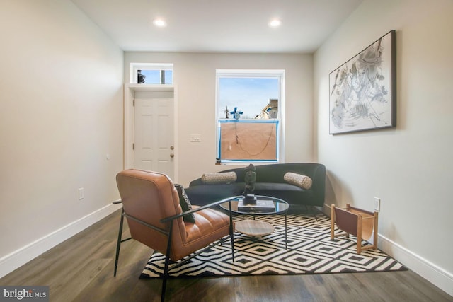
<instances>
[{"instance_id":1,"label":"black and white diamond-patterned rug under the coffee table","mask_svg":"<svg viewBox=\"0 0 453 302\"><path fill-rule=\"evenodd\" d=\"M235 220L251 219L235 216ZM251 240L234 233L234 262L231 245L224 243L171 269L170 277L226 277L253 274L331 274L343 272L389 272L406 270L380 250L365 250L357 255L355 237L331 240L331 220L326 216L288 214L287 249L285 216L257 216L274 225L270 235ZM365 241L364 241L365 244ZM164 272L165 257L151 255L140 278L159 278Z\"/></svg>"}]
</instances>

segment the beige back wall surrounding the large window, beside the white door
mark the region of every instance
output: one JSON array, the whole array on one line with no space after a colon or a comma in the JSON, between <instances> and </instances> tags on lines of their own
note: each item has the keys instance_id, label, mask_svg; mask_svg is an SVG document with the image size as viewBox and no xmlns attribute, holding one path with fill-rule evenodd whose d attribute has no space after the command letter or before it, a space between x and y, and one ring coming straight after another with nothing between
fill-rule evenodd
<instances>
[{"instance_id":1,"label":"beige back wall surrounding the large window, beside the white door","mask_svg":"<svg viewBox=\"0 0 453 302\"><path fill-rule=\"evenodd\" d=\"M285 161L313 161L313 59L311 54L207 54L125 52L125 81L130 63L173 63L178 95L178 175L188 185L202 173L229 167L215 165L216 69L285 69ZM201 134L200 143L189 141Z\"/></svg>"}]
</instances>

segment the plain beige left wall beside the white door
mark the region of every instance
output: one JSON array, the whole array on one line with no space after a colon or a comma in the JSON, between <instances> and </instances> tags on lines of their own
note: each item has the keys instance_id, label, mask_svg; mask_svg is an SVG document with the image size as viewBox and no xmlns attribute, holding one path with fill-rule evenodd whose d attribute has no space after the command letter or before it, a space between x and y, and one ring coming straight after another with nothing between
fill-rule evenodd
<instances>
[{"instance_id":1,"label":"plain beige left wall beside the white door","mask_svg":"<svg viewBox=\"0 0 453 302\"><path fill-rule=\"evenodd\" d=\"M1 276L117 198L123 54L70 1L0 2Z\"/></svg>"}]
</instances>

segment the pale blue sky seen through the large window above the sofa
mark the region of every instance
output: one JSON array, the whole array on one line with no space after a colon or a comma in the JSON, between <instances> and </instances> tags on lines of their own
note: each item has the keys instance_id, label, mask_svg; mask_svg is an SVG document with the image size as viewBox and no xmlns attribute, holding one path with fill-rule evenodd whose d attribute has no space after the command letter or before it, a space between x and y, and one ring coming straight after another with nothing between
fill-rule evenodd
<instances>
[{"instance_id":1,"label":"pale blue sky seen through the large window above the sofa","mask_svg":"<svg viewBox=\"0 0 453 302\"><path fill-rule=\"evenodd\" d=\"M268 105L270 98L280 99L277 78L220 77L218 93L219 118L226 117L226 107L229 112L237 107L243 112L241 119L254 119Z\"/></svg>"}]
</instances>

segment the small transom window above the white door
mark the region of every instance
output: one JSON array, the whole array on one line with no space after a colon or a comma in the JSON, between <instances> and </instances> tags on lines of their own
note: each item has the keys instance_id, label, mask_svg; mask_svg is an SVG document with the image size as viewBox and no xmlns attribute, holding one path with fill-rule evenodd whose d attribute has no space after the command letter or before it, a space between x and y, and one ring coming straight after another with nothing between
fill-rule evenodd
<instances>
[{"instance_id":1,"label":"small transom window above the white door","mask_svg":"<svg viewBox=\"0 0 453 302\"><path fill-rule=\"evenodd\" d=\"M130 82L134 84L173 84L173 64L130 64Z\"/></svg>"}]
</instances>

